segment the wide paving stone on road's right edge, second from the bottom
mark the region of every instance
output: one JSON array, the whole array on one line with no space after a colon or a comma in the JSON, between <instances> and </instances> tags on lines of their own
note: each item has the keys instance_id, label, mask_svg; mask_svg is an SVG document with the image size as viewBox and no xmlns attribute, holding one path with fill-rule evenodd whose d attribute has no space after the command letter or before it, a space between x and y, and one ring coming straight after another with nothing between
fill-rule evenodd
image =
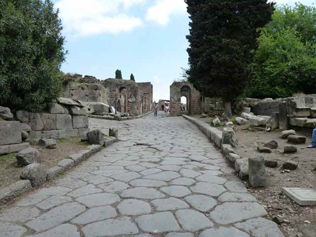
<instances>
[{"instance_id":1,"label":"wide paving stone on road's right edge, second from the bottom","mask_svg":"<svg viewBox=\"0 0 316 237\"><path fill-rule=\"evenodd\" d=\"M258 203L224 203L210 213L215 222L224 225L266 215L267 212Z\"/></svg>"}]
</instances>

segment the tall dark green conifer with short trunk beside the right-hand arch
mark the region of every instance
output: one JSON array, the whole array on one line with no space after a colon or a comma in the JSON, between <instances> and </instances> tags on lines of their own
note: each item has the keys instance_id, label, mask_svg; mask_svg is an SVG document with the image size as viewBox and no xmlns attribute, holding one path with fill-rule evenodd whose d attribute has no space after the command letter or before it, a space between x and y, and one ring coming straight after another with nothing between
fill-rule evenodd
<instances>
[{"instance_id":1,"label":"tall dark green conifer with short trunk beside the right-hand arch","mask_svg":"<svg viewBox=\"0 0 316 237\"><path fill-rule=\"evenodd\" d=\"M185 0L190 15L188 80L207 97L222 98L227 117L230 102L243 92L258 28L271 19L267 0Z\"/></svg>"}]
</instances>

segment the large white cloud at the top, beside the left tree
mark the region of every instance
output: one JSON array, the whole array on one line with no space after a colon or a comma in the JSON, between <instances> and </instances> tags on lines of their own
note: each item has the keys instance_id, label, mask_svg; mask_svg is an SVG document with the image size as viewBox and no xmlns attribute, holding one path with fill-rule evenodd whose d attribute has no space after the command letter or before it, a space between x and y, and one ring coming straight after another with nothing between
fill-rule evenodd
<instances>
[{"instance_id":1,"label":"large white cloud at the top, beside the left tree","mask_svg":"<svg viewBox=\"0 0 316 237\"><path fill-rule=\"evenodd\" d=\"M75 35L120 33L143 24L139 17L125 12L135 4L146 0L59 0L64 31Z\"/></svg>"}]
</instances>

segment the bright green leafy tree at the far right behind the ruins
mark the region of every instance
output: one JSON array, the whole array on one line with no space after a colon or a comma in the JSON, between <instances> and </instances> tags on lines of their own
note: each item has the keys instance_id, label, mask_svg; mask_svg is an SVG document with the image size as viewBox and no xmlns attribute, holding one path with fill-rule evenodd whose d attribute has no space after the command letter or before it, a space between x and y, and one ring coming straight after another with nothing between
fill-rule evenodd
<instances>
[{"instance_id":1,"label":"bright green leafy tree at the far right behind the ruins","mask_svg":"<svg viewBox=\"0 0 316 237\"><path fill-rule=\"evenodd\" d=\"M255 53L254 78L245 96L289 97L316 93L316 8L297 3L276 9L262 29Z\"/></svg>"}]
</instances>

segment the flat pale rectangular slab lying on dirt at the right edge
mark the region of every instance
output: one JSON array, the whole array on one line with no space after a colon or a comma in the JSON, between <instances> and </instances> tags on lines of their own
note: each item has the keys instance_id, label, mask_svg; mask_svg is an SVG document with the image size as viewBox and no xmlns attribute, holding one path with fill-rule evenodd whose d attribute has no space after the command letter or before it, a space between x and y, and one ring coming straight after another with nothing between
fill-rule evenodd
<instances>
[{"instance_id":1,"label":"flat pale rectangular slab lying on dirt at the right edge","mask_svg":"<svg viewBox=\"0 0 316 237\"><path fill-rule=\"evenodd\" d=\"M316 190L284 187L283 192L301 206L316 205Z\"/></svg>"}]
</instances>

